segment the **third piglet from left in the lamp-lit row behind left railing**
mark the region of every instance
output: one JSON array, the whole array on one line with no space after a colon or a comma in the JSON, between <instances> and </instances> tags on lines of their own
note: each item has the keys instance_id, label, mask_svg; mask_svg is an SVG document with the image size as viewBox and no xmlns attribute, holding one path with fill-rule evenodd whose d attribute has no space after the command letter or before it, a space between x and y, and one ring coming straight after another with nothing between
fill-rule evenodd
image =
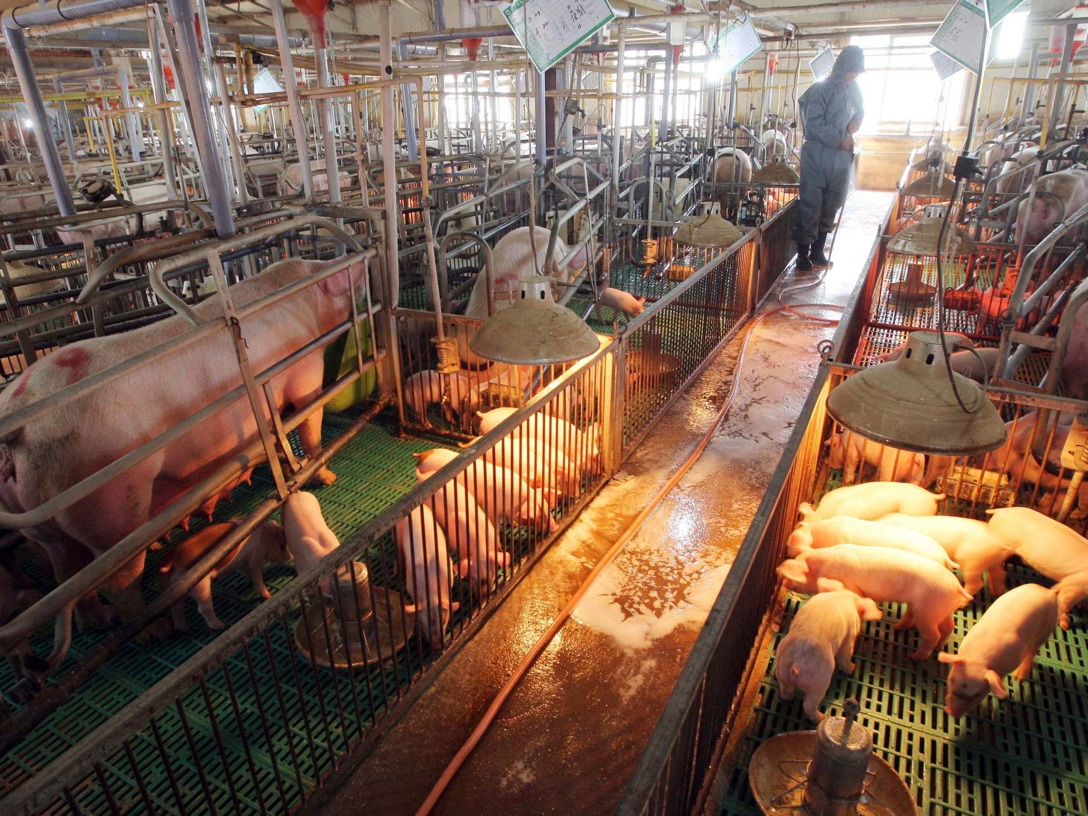
<instances>
[{"instance_id":1,"label":"third piglet from left in the lamp-lit row behind left railing","mask_svg":"<svg viewBox=\"0 0 1088 816\"><path fill-rule=\"evenodd\" d=\"M421 456L420 454L412 455ZM416 482L424 481L438 467L445 465L443 459L445 457L423 455L423 458L420 459L420 467L416 468ZM434 463L438 461L442 465L434 467ZM545 527L548 532L559 529L555 519L552 518L555 492L530 487L524 479L508 468L477 459L471 467L457 477L457 481L468 489L477 504L487 514L487 518L496 523L506 519L515 524Z\"/></svg>"}]
</instances>

